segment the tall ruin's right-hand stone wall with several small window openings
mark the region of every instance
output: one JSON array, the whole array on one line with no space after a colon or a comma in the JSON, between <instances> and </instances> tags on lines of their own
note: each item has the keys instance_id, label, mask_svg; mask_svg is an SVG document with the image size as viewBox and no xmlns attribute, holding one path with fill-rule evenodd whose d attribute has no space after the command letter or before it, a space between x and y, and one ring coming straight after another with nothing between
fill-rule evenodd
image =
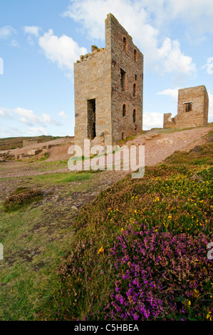
<instances>
[{"instance_id":1,"label":"tall ruin's right-hand stone wall with several small window openings","mask_svg":"<svg viewBox=\"0 0 213 335\"><path fill-rule=\"evenodd\" d=\"M129 135L142 131L142 88L143 88L143 55L133 44L123 26L112 14L105 21L106 42L112 50L112 122L113 144ZM123 50L123 37L126 38L126 51ZM137 61L134 58L137 53ZM120 68L126 72L125 91L120 83ZM137 76L135 78L135 75ZM136 84L136 96L133 96L133 85ZM126 114L123 116L123 105ZM136 110L136 120L133 122L133 110Z\"/></svg>"}]
</instances>

